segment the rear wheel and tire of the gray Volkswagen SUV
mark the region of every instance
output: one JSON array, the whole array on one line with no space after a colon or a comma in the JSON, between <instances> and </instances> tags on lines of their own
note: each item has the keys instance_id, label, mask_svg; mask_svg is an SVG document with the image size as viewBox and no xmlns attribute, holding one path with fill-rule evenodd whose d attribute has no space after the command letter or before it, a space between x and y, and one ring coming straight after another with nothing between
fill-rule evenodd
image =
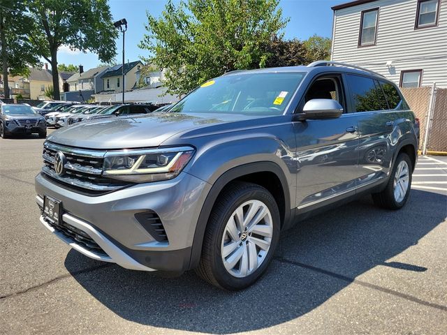
<instances>
[{"instance_id":1,"label":"rear wheel and tire of the gray Volkswagen SUV","mask_svg":"<svg viewBox=\"0 0 447 335\"><path fill-rule=\"evenodd\" d=\"M386 188L373 193L374 203L386 209L401 209L409 198L413 164L405 153L400 153L393 166Z\"/></svg>"}]
</instances>

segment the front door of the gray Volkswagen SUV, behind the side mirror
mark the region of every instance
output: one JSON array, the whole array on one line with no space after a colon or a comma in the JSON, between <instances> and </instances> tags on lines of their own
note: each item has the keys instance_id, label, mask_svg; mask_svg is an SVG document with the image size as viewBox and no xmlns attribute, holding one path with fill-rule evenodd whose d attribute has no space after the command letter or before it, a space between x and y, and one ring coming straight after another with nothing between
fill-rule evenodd
<instances>
[{"instance_id":1,"label":"front door of the gray Volkswagen SUV, behind the side mirror","mask_svg":"<svg viewBox=\"0 0 447 335\"><path fill-rule=\"evenodd\" d=\"M317 77L298 105L298 112L314 98L332 98L344 107L336 119L295 123L297 142L298 210L307 211L342 195L355 193L358 177L358 133L354 114L349 113L343 76Z\"/></svg>"}]
</instances>

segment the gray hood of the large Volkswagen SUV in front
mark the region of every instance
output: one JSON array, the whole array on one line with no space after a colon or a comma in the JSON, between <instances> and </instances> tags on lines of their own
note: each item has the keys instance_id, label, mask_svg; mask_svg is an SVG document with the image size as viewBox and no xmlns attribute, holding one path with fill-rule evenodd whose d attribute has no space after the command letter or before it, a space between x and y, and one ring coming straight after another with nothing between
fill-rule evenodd
<instances>
[{"instance_id":1,"label":"gray hood of the large Volkswagen SUV in front","mask_svg":"<svg viewBox=\"0 0 447 335\"><path fill-rule=\"evenodd\" d=\"M241 114L156 113L142 117L113 117L75 124L47 137L58 144L88 149L158 147L177 133L251 119Z\"/></svg>"}]
</instances>

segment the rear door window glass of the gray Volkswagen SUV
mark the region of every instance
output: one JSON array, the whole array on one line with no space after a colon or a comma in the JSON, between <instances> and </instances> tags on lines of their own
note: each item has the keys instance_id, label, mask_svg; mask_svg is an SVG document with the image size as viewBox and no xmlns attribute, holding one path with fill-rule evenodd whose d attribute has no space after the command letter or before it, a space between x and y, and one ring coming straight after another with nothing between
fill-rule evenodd
<instances>
[{"instance_id":1,"label":"rear door window glass of the gray Volkswagen SUV","mask_svg":"<svg viewBox=\"0 0 447 335\"><path fill-rule=\"evenodd\" d=\"M346 75L346 80L354 112L388 109L386 98L375 80L360 75Z\"/></svg>"}]
</instances>

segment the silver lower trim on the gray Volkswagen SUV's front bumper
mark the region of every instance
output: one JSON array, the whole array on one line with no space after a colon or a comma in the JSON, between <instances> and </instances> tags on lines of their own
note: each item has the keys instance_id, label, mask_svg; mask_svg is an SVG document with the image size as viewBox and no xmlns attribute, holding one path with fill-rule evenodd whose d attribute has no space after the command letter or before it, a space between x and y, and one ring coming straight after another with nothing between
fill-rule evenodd
<instances>
[{"instance_id":1,"label":"silver lower trim on the gray Volkswagen SUV's front bumper","mask_svg":"<svg viewBox=\"0 0 447 335\"><path fill-rule=\"evenodd\" d=\"M43 207L43 199L39 196L36 196L36 202L39 206ZM79 218L76 218L75 216L72 216L70 214L63 214L62 216L63 221L68 223L69 225L73 225L73 227L78 228L82 230L83 232L89 234L89 237L94 239L94 241L98 244L98 246L101 246L103 251L107 253L108 256L101 255L98 253L94 253L92 251L89 251L87 248L82 247L80 244L73 241L73 239L70 239L66 237L61 232L58 232L52 226L50 226L41 216L40 221L41 223L47 228L47 230L50 230L53 234L55 234L59 239L64 241L66 244L71 246L76 251L79 251L83 255L86 255L89 258L93 258L94 260L102 260L103 262L113 262L117 265L124 267L125 269L132 269L132 270L140 270L140 271L156 271L155 269L152 269L150 267L145 267L145 265L140 264L133 258L131 258L129 255L124 253L120 248L115 246L107 237L105 237L101 232L98 232L96 228L94 228L89 223L80 220Z\"/></svg>"}]
</instances>

